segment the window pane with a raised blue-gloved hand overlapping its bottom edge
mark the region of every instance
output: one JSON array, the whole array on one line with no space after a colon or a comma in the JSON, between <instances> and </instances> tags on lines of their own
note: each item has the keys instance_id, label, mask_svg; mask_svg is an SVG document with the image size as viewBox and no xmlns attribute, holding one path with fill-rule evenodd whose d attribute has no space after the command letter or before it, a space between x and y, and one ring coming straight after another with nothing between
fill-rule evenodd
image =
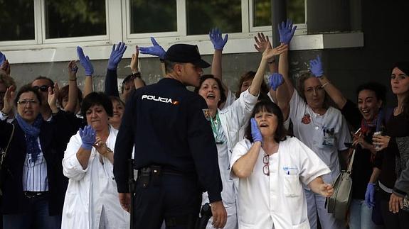
<instances>
[{"instance_id":1,"label":"window pane with a raised blue-gloved hand overlapping its bottom edge","mask_svg":"<svg viewBox=\"0 0 409 229\"><path fill-rule=\"evenodd\" d=\"M222 33L241 32L241 1L186 0L188 35L208 34L214 27Z\"/></svg>"}]
</instances>

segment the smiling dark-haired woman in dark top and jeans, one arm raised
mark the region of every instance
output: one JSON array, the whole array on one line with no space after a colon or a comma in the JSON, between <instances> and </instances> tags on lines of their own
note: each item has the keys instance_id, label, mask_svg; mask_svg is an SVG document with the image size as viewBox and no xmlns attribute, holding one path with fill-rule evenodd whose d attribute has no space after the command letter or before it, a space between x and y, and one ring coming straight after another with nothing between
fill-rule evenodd
<instances>
[{"instance_id":1,"label":"smiling dark-haired woman in dark top and jeans, one arm raised","mask_svg":"<svg viewBox=\"0 0 409 229\"><path fill-rule=\"evenodd\" d=\"M377 82L361 84L356 89L358 106L345 98L326 76L319 77L326 93L345 116L346 121L359 132L354 135L352 145L356 147L352 164L352 200L349 208L349 228L383 228L372 220L374 191L380 169L375 167L376 150L372 145L372 135L383 131L391 112L382 109L386 101L386 86Z\"/></svg>"}]
</instances>

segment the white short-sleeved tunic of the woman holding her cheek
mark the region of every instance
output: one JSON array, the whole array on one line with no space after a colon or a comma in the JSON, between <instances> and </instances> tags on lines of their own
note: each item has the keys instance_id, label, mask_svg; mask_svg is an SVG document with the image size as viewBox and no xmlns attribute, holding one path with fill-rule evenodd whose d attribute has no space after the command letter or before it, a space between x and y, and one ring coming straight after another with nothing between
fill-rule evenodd
<instances>
[{"instance_id":1,"label":"white short-sleeved tunic of the woman holding her cheek","mask_svg":"<svg viewBox=\"0 0 409 229\"><path fill-rule=\"evenodd\" d=\"M253 144L245 139L235 145L231 164L245 155ZM309 229L307 202L302 184L331 172L297 138L287 137L278 151L270 155L270 176L263 173L264 150L250 177L238 179L238 225L243 229Z\"/></svg>"}]
</instances>

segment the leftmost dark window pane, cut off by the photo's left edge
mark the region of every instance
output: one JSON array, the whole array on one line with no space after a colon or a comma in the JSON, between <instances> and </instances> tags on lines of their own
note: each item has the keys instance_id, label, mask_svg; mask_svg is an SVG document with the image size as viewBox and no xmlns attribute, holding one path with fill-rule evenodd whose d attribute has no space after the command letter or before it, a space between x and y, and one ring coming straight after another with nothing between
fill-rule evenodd
<instances>
[{"instance_id":1,"label":"leftmost dark window pane, cut off by the photo's left edge","mask_svg":"<svg viewBox=\"0 0 409 229\"><path fill-rule=\"evenodd\" d=\"M0 0L0 41L34 40L34 1Z\"/></svg>"}]
</instances>

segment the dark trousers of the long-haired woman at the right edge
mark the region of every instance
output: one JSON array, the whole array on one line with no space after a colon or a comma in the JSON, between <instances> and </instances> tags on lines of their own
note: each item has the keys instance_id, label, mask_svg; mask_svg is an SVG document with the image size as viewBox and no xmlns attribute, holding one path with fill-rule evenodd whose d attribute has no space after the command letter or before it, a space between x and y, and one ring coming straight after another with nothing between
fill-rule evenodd
<instances>
[{"instance_id":1,"label":"dark trousers of the long-haired woman at the right edge","mask_svg":"<svg viewBox=\"0 0 409 229\"><path fill-rule=\"evenodd\" d=\"M386 229L409 229L409 213L400 209L398 213L389 211L391 194L379 189L381 197L381 212Z\"/></svg>"}]
</instances>

